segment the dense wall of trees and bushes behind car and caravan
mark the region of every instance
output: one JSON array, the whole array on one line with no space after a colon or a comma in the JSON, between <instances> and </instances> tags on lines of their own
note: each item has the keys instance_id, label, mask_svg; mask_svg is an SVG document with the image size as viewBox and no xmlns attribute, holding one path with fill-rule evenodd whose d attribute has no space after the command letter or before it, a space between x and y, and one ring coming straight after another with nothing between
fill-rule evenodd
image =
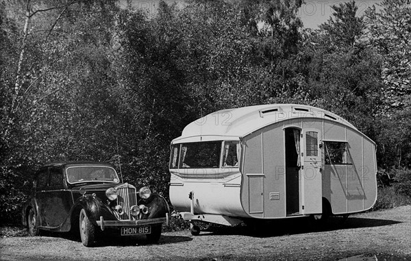
<instances>
[{"instance_id":1,"label":"dense wall of trees and bushes behind car and caravan","mask_svg":"<svg viewBox=\"0 0 411 261\"><path fill-rule=\"evenodd\" d=\"M1 1L0 219L19 220L51 161L112 162L168 198L169 143L185 125L264 103L343 116L377 142L393 184L378 202L409 195L409 1L365 17L341 3L316 30L303 29L302 4L160 1L148 14L132 1Z\"/></svg>"}]
</instances>

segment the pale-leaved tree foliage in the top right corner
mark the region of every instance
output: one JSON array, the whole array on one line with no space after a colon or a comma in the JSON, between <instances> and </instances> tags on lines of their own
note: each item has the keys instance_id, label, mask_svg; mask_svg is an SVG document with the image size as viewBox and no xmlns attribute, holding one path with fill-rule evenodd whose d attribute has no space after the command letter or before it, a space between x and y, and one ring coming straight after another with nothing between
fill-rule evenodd
<instances>
[{"instance_id":1,"label":"pale-leaved tree foliage in the top right corner","mask_svg":"<svg viewBox=\"0 0 411 261\"><path fill-rule=\"evenodd\" d=\"M411 2L384 0L366 12L371 47L384 57L382 81L387 105L405 106L402 99L411 95Z\"/></svg>"}]
</instances>

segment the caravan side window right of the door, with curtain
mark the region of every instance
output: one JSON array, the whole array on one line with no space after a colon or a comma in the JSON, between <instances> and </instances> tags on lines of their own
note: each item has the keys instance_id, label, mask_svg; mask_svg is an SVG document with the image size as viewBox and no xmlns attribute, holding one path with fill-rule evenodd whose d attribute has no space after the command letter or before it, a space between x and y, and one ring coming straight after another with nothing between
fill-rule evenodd
<instances>
[{"instance_id":1,"label":"caravan side window right of the door, with curtain","mask_svg":"<svg viewBox=\"0 0 411 261\"><path fill-rule=\"evenodd\" d=\"M347 142L324 141L325 164L352 164L349 158Z\"/></svg>"}]
</instances>

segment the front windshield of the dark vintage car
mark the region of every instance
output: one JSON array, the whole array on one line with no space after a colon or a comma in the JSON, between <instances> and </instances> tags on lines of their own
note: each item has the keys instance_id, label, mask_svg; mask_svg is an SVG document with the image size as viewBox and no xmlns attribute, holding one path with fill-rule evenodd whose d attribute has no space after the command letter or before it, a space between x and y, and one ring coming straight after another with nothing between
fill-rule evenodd
<instances>
[{"instance_id":1,"label":"front windshield of the dark vintage car","mask_svg":"<svg viewBox=\"0 0 411 261\"><path fill-rule=\"evenodd\" d=\"M119 183L119 176L110 166L69 166L66 169L67 181L79 182L114 182Z\"/></svg>"}]
</instances>

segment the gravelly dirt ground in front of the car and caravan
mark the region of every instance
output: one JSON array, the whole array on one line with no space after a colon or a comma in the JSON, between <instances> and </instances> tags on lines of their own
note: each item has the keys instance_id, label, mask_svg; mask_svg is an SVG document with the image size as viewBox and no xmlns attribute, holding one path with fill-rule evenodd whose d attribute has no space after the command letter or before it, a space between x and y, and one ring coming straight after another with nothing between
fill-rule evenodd
<instances>
[{"instance_id":1,"label":"gravelly dirt ground in front of the car and caravan","mask_svg":"<svg viewBox=\"0 0 411 261\"><path fill-rule=\"evenodd\" d=\"M411 206L335 217L327 227L292 219L145 238L110 237L87 248L66 234L0 239L0 260L411 260ZM362 255L362 256L360 256Z\"/></svg>"}]
</instances>

